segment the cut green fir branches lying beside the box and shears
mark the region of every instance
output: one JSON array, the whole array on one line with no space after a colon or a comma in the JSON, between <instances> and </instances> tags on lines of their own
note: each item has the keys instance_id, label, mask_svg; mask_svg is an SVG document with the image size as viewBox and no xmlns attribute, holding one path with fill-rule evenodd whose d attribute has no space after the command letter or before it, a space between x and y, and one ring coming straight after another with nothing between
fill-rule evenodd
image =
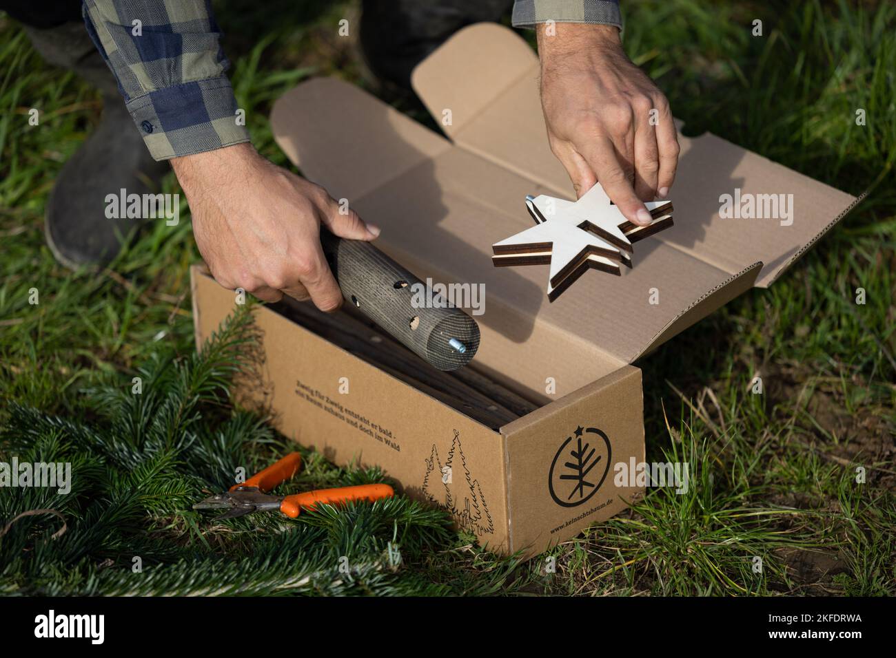
<instances>
[{"instance_id":1,"label":"cut green fir branches lying beside the box and shears","mask_svg":"<svg viewBox=\"0 0 896 658\"><path fill-rule=\"evenodd\" d=\"M13 405L0 461L71 465L71 491L0 487L0 594L451 594L427 555L451 545L449 519L403 496L289 519L216 522L194 502L295 446L233 406L230 382L254 340L240 308L200 354L151 358L136 379L88 392L86 422ZM305 453L282 492L382 482ZM508 565L509 566L509 565ZM486 578L480 586L488 586ZM435 581L435 582L434 582ZM444 578L451 583L449 578Z\"/></svg>"}]
</instances>

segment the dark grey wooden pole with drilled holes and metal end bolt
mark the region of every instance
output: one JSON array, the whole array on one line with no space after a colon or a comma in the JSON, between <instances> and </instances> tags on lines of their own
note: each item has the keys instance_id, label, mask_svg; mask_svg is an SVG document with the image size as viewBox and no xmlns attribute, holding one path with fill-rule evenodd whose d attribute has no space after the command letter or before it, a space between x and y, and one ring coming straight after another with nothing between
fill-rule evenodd
<instances>
[{"instance_id":1,"label":"dark grey wooden pole with drilled holes and metal end bolt","mask_svg":"<svg viewBox=\"0 0 896 658\"><path fill-rule=\"evenodd\" d=\"M414 303L415 291L426 285L373 244L343 240L325 229L321 242L348 303L439 370L470 363L479 346L476 320L458 308ZM441 295L425 296L445 303Z\"/></svg>"}]
</instances>

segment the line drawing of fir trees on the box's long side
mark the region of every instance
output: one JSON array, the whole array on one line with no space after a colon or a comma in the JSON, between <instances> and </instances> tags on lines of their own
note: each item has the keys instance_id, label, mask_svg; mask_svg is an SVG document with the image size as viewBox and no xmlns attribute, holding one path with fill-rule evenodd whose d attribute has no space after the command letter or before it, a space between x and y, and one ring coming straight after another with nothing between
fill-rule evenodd
<instances>
[{"instance_id":1,"label":"line drawing of fir trees on the box's long side","mask_svg":"<svg viewBox=\"0 0 896 658\"><path fill-rule=\"evenodd\" d=\"M445 477L446 474L449 476ZM495 533L495 523L488 512L482 486L473 479L467 467L467 457L461 448L461 432L454 430L451 450L444 464L433 444L426 459L423 493L426 500L448 510L464 530L475 534Z\"/></svg>"}]
</instances>

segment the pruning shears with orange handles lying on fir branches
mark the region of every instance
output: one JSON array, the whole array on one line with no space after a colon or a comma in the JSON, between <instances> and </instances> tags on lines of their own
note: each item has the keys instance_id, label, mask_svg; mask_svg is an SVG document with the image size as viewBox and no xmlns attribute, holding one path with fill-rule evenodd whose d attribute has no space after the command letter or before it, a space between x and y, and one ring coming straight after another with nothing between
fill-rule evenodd
<instances>
[{"instance_id":1,"label":"pruning shears with orange handles lying on fir branches","mask_svg":"<svg viewBox=\"0 0 896 658\"><path fill-rule=\"evenodd\" d=\"M226 509L227 511L217 517L216 521L221 518L242 517L253 512L271 510L279 510L286 516L295 518L303 508L314 508L320 503L340 505L351 500L373 502L395 495L395 491L392 491L392 487L388 484L358 484L351 487L294 493L289 496L271 496L266 493L295 475L301 463L302 456L297 452L291 452L263 471L254 474L245 483L234 484L230 487L230 491L216 493L214 496L196 503L193 508Z\"/></svg>"}]
</instances>

